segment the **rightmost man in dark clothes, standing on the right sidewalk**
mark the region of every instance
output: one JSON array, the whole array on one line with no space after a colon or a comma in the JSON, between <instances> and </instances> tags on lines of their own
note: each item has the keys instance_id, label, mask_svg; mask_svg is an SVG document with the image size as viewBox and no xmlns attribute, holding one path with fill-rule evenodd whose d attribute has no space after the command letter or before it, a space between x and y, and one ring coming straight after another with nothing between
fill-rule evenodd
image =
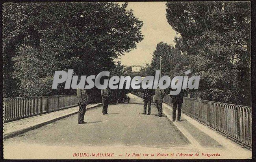
<instances>
[{"instance_id":1,"label":"rightmost man in dark clothes, standing on the right sidewalk","mask_svg":"<svg viewBox=\"0 0 256 162\"><path fill-rule=\"evenodd\" d=\"M172 103L173 103L173 121L175 122L176 119L176 109L178 106L178 121L181 122L180 116L181 116L181 107L183 103L183 96L184 96L184 91L183 89L180 91L178 95L172 96Z\"/></svg>"}]
</instances>

